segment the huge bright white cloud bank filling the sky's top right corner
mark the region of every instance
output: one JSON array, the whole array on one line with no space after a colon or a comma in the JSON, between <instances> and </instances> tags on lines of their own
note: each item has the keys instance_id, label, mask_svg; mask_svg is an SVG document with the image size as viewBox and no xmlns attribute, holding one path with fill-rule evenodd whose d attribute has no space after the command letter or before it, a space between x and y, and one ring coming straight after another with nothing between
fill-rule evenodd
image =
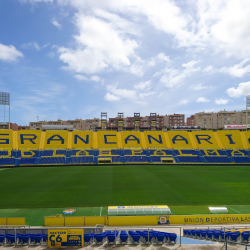
<instances>
[{"instance_id":1,"label":"huge bright white cloud bank filling the sky's top right corner","mask_svg":"<svg viewBox=\"0 0 250 250\"><path fill-rule=\"evenodd\" d=\"M22 1L34 3L42 0ZM225 52L227 56L250 56L248 0L196 0L187 1L185 7L181 1L171 0L58 0L57 3L68 4L77 9L79 13L76 19L79 19L80 15L87 17L86 13L94 19L102 19L104 23L112 26L112 30L120 39L122 37L123 44L126 41L124 34L140 35L140 29L125 20L126 16L129 16L135 22L146 19L158 31L171 35L176 47L196 51L212 48L215 52ZM120 17L116 13L119 13ZM143 21L145 23L145 20ZM103 32L100 30L98 33L100 37ZM80 32L79 36L82 34L84 32ZM89 34L87 36L89 37ZM112 44L116 44L116 41ZM130 57L126 53L122 54Z\"/></svg>"}]
</instances>

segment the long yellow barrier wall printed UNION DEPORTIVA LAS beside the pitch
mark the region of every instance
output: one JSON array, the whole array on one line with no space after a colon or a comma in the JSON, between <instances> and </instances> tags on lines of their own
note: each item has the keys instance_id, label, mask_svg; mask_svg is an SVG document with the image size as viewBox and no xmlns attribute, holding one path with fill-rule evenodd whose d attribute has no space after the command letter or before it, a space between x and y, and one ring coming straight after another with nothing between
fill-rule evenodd
<instances>
[{"instance_id":1,"label":"long yellow barrier wall printed UNION DEPORTIVA LAS beside the pitch","mask_svg":"<svg viewBox=\"0 0 250 250\"><path fill-rule=\"evenodd\" d=\"M250 214L44 217L44 226L146 226L250 223Z\"/></svg>"}]
</instances>

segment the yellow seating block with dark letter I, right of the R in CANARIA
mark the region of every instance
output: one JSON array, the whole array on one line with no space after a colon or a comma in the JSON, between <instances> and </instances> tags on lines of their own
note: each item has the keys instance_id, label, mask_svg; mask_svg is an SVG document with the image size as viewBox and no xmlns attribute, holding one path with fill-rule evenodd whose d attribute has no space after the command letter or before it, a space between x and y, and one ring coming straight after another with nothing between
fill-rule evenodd
<instances>
[{"instance_id":1,"label":"yellow seating block with dark letter I, right of the R in CANARIA","mask_svg":"<svg viewBox=\"0 0 250 250\"><path fill-rule=\"evenodd\" d=\"M219 130L219 131L217 131L217 134L220 138L220 141L225 149L230 149L230 148L243 149L244 148L240 133L241 132L239 130L230 130L230 131Z\"/></svg>"}]
</instances>

